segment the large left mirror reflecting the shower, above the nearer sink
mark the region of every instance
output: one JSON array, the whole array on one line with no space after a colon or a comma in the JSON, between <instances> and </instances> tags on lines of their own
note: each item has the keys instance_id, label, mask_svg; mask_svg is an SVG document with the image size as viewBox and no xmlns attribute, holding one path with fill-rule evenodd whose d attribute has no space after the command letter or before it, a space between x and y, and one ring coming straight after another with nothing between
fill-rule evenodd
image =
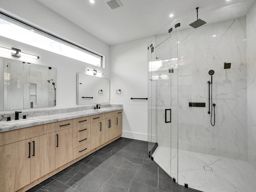
<instances>
[{"instance_id":1,"label":"large left mirror reflecting the shower, above the nearer sink","mask_svg":"<svg viewBox=\"0 0 256 192\"><path fill-rule=\"evenodd\" d=\"M0 57L0 110L56 106L56 68Z\"/></svg>"}]
</instances>

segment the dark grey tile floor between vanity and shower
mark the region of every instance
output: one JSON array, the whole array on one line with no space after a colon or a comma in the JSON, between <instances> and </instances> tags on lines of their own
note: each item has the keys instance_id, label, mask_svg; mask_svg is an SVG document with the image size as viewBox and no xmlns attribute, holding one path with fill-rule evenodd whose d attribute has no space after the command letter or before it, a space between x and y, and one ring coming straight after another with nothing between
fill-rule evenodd
<instances>
[{"instance_id":1,"label":"dark grey tile floor between vanity and shower","mask_svg":"<svg viewBox=\"0 0 256 192\"><path fill-rule=\"evenodd\" d=\"M174 183L145 141L120 138L27 192L194 192Z\"/></svg>"}]
</instances>

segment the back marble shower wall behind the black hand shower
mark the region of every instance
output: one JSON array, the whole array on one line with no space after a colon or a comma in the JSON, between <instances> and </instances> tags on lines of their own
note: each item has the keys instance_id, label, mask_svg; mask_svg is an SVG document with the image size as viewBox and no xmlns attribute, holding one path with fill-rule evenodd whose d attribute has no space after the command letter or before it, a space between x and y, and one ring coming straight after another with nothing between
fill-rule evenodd
<instances>
[{"instance_id":1,"label":"back marble shower wall behind the black hand shower","mask_svg":"<svg viewBox=\"0 0 256 192\"><path fill-rule=\"evenodd\" d=\"M245 16L197 29L178 29L180 150L248 160L245 39ZM224 62L231 62L231 68L224 69ZM209 70L215 71L215 126L208 114ZM205 102L206 107L189 107L189 102Z\"/></svg>"}]
</instances>

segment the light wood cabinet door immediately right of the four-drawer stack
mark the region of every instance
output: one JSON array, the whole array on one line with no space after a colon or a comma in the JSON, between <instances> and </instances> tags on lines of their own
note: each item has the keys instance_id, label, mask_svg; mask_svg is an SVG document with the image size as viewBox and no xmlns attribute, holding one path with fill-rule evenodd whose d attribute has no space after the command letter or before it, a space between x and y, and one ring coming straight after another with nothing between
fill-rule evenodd
<instances>
[{"instance_id":1,"label":"light wood cabinet door immediately right of the four-drawer stack","mask_svg":"<svg viewBox=\"0 0 256 192\"><path fill-rule=\"evenodd\" d=\"M106 130L105 120L91 123L91 150L101 145L104 130Z\"/></svg>"}]
</instances>

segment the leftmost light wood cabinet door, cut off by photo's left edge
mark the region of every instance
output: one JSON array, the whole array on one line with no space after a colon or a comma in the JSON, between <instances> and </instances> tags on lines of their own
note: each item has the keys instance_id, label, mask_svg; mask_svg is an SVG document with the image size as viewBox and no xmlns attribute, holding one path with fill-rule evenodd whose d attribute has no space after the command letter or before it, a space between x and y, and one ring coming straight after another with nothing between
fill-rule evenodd
<instances>
[{"instance_id":1,"label":"leftmost light wood cabinet door, cut off by photo's left edge","mask_svg":"<svg viewBox=\"0 0 256 192\"><path fill-rule=\"evenodd\" d=\"M26 139L0 147L0 192L30 184L30 145L31 139Z\"/></svg>"}]
</instances>

